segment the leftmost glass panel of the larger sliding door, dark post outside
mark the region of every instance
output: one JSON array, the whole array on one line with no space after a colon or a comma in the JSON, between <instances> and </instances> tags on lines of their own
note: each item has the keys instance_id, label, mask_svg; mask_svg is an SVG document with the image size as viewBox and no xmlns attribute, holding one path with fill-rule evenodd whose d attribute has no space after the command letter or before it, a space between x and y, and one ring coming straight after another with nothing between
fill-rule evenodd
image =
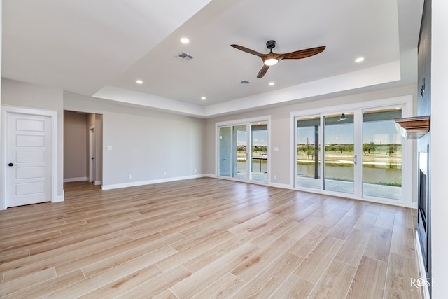
<instances>
[{"instance_id":1,"label":"leftmost glass panel of the larger sliding door, dark post outside","mask_svg":"<svg viewBox=\"0 0 448 299\"><path fill-rule=\"evenodd\" d=\"M321 118L296 119L296 186L321 188L321 146L319 130Z\"/></svg>"}]
</instances>

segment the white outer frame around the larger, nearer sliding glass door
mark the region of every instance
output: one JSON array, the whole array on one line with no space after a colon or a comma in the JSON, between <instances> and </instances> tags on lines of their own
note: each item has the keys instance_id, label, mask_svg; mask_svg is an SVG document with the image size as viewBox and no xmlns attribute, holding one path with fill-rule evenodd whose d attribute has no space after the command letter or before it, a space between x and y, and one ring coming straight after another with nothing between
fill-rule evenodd
<instances>
[{"instance_id":1,"label":"white outer frame around the larger, nearer sliding glass door","mask_svg":"<svg viewBox=\"0 0 448 299\"><path fill-rule=\"evenodd\" d=\"M399 97L388 97L384 99L377 99L377 100L371 100L371 101L365 101L365 102L353 102L351 104L340 104L335 106L325 106L320 107L316 109L309 109L309 110L302 110L302 111L292 111L290 113L290 143L293 144L291 146L290 151L290 188L295 190L302 190L303 188L297 188L295 186L295 162L296 162L296 156L295 156L295 118L300 116L311 116L311 115L324 115L328 113L335 113L337 111L348 111L351 110L353 112L356 111L363 111L363 109L381 109L382 107L390 107L390 106L401 106L402 107L402 117L410 117L412 116L412 109L413 109L413 95L403 95ZM355 122L358 121L358 127L362 125L362 118L358 118L358 120L355 120ZM358 134L355 127L355 138ZM319 137L321 138L321 137ZM320 140L322 141L322 140ZM356 141L356 140L355 140ZM414 200L414 194L415 192L412 192L412 188L414 188L414 184L412 183L413 178L413 171L416 160L416 151L415 146L412 142L412 140L402 139L402 199L398 202L395 200L381 200L381 199L370 199L369 197L363 197L360 195L360 192L350 194L350 193L344 193L343 195L341 193L336 193L332 191L326 191L326 190L312 190L307 188L306 190L309 192L314 193L322 193L322 194L328 194L328 195L335 195L335 196L344 196L347 198L353 198L356 200L365 200L365 201L372 201L372 202L384 202L388 204L395 204L395 205L401 205L405 207L416 207L416 201ZM360 153L358 153L360 155ZM357 171L359 174L359 168L356 170L355 167L355 175L357 175ZM321 186L322 188L322 186ZM356 188L356 186L355 186ZM305 190L305 189L303 189Z\"/></svg>"}]
</instances>

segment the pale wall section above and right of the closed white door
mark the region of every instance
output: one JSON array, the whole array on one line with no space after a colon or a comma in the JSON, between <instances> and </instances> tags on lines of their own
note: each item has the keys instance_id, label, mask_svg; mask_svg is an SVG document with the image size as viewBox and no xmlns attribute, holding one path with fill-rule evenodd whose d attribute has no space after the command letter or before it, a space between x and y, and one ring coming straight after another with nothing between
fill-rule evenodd
<instances>
[{"instance_id":1,"label":"pale wall section above and right of the closed white door","mask_svg":"<svg viewBox=\"0 0 448 299\"><path fill-rule=\"evenodd\" d=\"M64 109L63 92L59 88L49 88L2 78L1 104L35 109L57 111L57 194L58 200L64 196Z\"/></svg>"}]
</instances>

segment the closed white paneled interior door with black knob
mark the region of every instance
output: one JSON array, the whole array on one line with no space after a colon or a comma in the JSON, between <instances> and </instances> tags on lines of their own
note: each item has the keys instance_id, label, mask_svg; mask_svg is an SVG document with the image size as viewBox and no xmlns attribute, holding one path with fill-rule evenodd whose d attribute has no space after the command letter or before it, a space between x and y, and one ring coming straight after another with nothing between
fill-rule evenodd
<instances>
[{"instance_id":1,"label":"closed white paneled interior door with black knob","mask_svg":"<svg viewBox=\"0 0 448 299\"><path fill-rule=\"evenodd\" d=\"M51 201L51 118L7 113L6 205Z\"/></svg>"}]
</instances>

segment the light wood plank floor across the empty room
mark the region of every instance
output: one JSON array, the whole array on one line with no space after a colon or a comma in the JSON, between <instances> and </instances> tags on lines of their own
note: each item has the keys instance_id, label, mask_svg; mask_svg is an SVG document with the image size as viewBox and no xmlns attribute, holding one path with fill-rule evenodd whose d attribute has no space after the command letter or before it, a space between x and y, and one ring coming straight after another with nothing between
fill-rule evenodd
<instances>
[{"instance_id":1,"label":"light wood plank floor across the empty room","mask_svg":"<svg viewBox=\"0 0 448 299\"><path fill-rule=\"evenodd\" d=\"M0 298L421 298L415 211L220 179L0 211Z\"/></svg>"}]
</instances>

